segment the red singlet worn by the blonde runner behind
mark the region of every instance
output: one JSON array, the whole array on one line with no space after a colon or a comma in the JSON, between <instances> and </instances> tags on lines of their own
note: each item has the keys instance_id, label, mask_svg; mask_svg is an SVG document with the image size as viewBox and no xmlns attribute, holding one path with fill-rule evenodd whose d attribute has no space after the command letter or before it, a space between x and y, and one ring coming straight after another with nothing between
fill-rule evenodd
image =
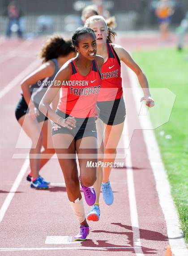
<instances>
[{"instance_id":1,"label":"red singlet worn by the blonde runner behind","mask_svg":"<svg viewBox=\"0 0 188 256\"><path fill-rule=\"evenodd\" d=\"M120 99L123 95L120 59L109 43L107 50L108 58L102 66L102 86L97 101Z\"/></svg>"}]
</instances>

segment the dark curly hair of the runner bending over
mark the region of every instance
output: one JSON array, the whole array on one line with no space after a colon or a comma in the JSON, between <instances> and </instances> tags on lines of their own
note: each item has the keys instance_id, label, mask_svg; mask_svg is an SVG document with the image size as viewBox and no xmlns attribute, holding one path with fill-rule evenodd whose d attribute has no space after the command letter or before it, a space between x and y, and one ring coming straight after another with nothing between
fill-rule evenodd
<instances>
[{"instance_id":1,"label":"dark curly hair of the runner bending over","mask_svg":"<svg viewBox=\"0 0 188 256\"><path fill-rule=\"evenodd\" d=\"M52 36L43 45L39 55L43 60L42 62L45 63L52 58L66 56L74 51L71 40L64 40L61 36Z\"/></svg>"}]
</instances>

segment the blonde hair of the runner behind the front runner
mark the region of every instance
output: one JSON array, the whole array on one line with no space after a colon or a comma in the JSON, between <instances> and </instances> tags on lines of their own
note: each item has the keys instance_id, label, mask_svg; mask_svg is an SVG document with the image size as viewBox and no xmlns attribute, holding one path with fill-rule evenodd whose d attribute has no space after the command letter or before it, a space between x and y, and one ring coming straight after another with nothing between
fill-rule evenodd
<instances>
[{"instance_id":1,"label":"blonde hair of the runner behind the front runner","mask_svg":"<svg viewBox=\"0 0 188 256\"><path fill-rule=\"evenodd\" d=\"M113 18L113 17L111 17L111 18ZM112 22L112 20L113 20L114 22ZM104 22L104 24L105 24L106 27L107 27L107 31L108 31L107 42L108 42L108 43L112 43L113 40L115 40L115 36L116 36L117 34L111 29L111 27L109 27L109 26L107 25L107 22L106 22L106 20L103 18L103 16L100 16L100 15L91 16L90 18L88 18L88 19L86 20L84 27L90 27L90 22L94 22L94 21L103 21L103 22ZM111 21L111 24L112 24L112 23L114 24L114 23L115 23L115 18L114 18L114 19L111 19L111 20L109 20L109 21Z\"/></svg>"}]
</instances>

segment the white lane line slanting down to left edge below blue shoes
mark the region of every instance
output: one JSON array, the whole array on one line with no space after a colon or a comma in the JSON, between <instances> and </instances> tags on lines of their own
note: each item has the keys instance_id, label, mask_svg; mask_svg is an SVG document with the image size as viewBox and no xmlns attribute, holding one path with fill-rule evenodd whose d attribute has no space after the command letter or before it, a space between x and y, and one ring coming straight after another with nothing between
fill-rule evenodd
<instances>
[{"instance_id":1,"label":"white lane line slanting down to left edge below blue shoes","mask_svg":"<svg viewBox=\"0 0 188 256\"><path fill-rule=\"evenodd\" d=\"M16 180L14 181L9 194L7 195L6 199L4 200L4 203L0 209L0 222L3 220L3 217L14 197L15 192L17 191L17 188L19 186L19 184L21 183L21 180L23 178L23 176L25 175L27 168L29 167L30 161L29 159L26 159L25 162L23 163L23 165L21 166L21 170L17 175Z\"/></svg>"}]
</instances>

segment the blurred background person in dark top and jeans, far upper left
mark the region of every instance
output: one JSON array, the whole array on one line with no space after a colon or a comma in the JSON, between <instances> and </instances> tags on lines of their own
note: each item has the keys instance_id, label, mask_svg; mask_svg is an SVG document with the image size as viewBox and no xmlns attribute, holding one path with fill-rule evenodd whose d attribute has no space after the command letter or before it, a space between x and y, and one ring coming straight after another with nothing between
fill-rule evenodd
<instances>
[{"instance_id":1,"label":"blurred background person in dark top and jeans, far upper left","mask_svg":"<svg viewBox=\"0 0 188 256\"><path fill-rule=\"evenodd\" d=\"M17 32L19 38L23 38L23 29L21 27L21 17L23 13L14 3L9 5L8 9L8 25L6 36L10 37L12 32Z\"/></svg>"}]
</instances>

